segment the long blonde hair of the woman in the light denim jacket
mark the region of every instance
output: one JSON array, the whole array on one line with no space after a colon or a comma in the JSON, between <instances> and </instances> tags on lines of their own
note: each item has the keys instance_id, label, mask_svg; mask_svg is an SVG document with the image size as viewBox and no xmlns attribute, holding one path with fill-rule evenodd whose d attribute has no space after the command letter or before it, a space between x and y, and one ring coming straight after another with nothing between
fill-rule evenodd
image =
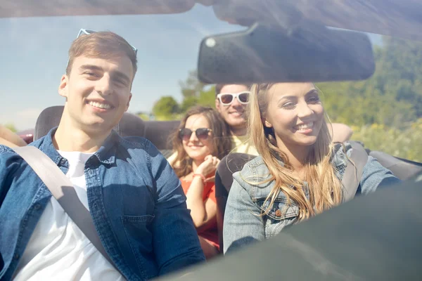
<instances>
[{"instance_id":1,"label":"long blonde hair of the woman in the light denim jacket","mask_svg":"<svg viewBox=\"0 0 422 281\"><path fill-rule=\"evenodd\" d=\"M262 156L269 169L269 178L261 183L275 181L274 188L267 196L268 214L279 192L287 197L286 209L295 202L299 208L298 220L303 220L340 204L342 188L340 180L335 176L335 169L331 164L333 143L326 119L323 120L321 131L312 145L305 164L305 181L309 186L309 200L305 195L304 185L300 178L294 176L288 156L276 145L274 131L263 124L267 114L268 91L274 84L254 84L251 87L250 103L248 105L248 135ZM326 118L328 118L326 116ZM281 162L280 162L281 160ZM253 183L255 185L261 183ZM262 214L262 215L264 215Z\"/></svg>"}]
</instances>

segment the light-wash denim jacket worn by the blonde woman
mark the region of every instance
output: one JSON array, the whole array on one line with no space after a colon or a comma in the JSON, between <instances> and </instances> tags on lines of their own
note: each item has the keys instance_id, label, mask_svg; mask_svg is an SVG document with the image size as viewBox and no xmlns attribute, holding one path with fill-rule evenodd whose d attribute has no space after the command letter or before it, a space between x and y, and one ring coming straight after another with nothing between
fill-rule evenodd
<instances>
[{"instance_id":1,"label":"light-wash denim jacket worn by the blonde woman","mask_svg":"<svg viewBox=\"0 0 422 281\"><path fill-rule=\"evenodd\" d=\"M335 145L331 163L335 167L335 174L343 178L347 166L347 157L350 157L352 147L350 143ZM267 196L274 188L275 181L260 183L269 178L269 169L261 156L252 159L243 166L240 172L233 175L229 197L224 214L224 253L245 244L274 237L286 226L297 223L299 208L295 202L287 204L286 195L279 192L269 213L260 216L269 207ZM248 182L257 182L251 185ZM369 156L364 166L362 178L357 189L359 194L374 192L380 185L390 185L399 182L391 171ZM309 190L305 185L305 195L309 198Z\"/></svg>"}]
</instances>

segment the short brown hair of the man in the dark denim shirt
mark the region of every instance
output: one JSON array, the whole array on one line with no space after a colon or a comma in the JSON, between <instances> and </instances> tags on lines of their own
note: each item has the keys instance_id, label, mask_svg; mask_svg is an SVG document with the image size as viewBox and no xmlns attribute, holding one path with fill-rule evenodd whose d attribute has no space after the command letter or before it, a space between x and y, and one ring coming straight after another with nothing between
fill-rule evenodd
<instances>
[{"instance_id":1,"label":"short brown hair of the man in the dark denim shirt","mask_svg":"<svg viewBox=\"0 0 422 281\"><path fill-rule=\"evenodd\" d=\"M77 37L69 49L69 62L68 67L66 67L66 75L69 76L72 71L73 60L81 55L104 59L127 55L132 62L134 76L138 68L136 66L136 53L132 46L123 37L113 32L94 32Z\"/></svg>"}]
</instances>

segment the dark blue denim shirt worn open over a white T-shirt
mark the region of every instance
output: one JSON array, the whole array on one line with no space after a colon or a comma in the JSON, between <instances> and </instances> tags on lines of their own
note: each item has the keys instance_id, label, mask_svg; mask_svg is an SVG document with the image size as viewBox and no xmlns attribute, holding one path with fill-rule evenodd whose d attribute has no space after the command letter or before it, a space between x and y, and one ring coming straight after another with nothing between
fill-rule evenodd
<instances>
[{"instance_id":1,"label":"dark blue denim shirt worn open over a white T-shirt","mask_svg":"<svg viewBox=\"0 0 422 281\"><path fill-rule=\"evenodd\" d=\"M31 145L63 173L52 129ZM85 164L89 210L110 259L127 280L148 280L205 261L179 178L145 138L112 131ZM51 192L0 145L0 280L11 280Z\"/></svg>"}]
</instances>

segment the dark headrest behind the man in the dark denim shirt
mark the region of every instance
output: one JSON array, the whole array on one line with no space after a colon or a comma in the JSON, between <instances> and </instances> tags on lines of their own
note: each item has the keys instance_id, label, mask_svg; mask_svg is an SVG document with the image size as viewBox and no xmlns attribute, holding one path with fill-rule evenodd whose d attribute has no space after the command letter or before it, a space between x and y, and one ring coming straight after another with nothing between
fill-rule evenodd
<instances>
[{"instance_id":1,"label":"dark headrest behind the man in the dark denim shirt","mask_svg":"<svg viewBox=\"0 0 422 281\"><path fill-rule=\"evenodd\" d=\"M35 124L34 141L46 136L52 128L58 126L63 108L63 105L57 105L47 107L41 112ZM115 126L115 130L120 136L144 136L145 123L140 117L124 112L119 124Z\"/></svg>"}]
</instances>

